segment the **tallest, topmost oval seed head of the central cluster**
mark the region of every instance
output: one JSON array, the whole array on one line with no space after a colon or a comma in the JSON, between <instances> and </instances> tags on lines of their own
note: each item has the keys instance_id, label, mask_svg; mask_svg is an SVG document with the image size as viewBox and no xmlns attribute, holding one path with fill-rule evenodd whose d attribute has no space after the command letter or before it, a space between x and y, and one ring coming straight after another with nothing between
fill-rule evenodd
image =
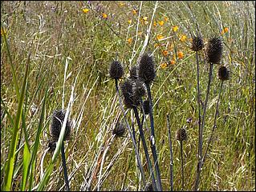
<instances>
[{"instance_id":1,"label":"tallest, topmost oval seed head of the central cluster","mask_svg":"<svg viewBox=\"0 0 256 192\"><path fill-rule=\"evenodd\" d=\"M154 59L147 53L140 58L138 76L146 84L153 82L154 78L156 78Z\"/></svg>"}]
</instances>

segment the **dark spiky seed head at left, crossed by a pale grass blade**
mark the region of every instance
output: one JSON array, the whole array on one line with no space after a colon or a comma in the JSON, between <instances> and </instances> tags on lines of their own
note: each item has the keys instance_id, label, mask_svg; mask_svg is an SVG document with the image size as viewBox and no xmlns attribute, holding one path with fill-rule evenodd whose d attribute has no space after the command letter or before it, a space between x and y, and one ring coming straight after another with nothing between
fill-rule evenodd
<instances>
[{"instance_id":1,"label":"dark spiky seed head at left, crossed by a pale grass blade","mask_svg":"<svg viewBox=\"0 0 256 192\"><path fill-rule=\"evenodd\" d=\"M66 111L65 110L55 110L51 118L51 127L50 134L53 137L53 140L58 140L61 127L63 126L64 118ZM66 130L64 134L64 141L70 137L71 133L71 122L67 119Z\"/></svg>"}]
</instances>

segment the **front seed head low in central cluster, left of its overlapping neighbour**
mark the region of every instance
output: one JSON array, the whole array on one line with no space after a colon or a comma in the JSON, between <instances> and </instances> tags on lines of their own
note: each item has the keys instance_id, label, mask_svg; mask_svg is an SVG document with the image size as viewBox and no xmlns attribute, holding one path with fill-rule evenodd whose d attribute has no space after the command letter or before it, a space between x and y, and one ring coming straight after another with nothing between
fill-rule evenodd
<instances>
[{"instance_id":1,"label":"front seed head low in central cluster, left of its overlapping neighbour","mask_svg":"<svg viewBox=\"0 0 256 192\"><path fill-rule=\"evenodd\" d=\"M124 96L124 106L126 106L129 109L132 109L133 106L138 106L140 104L140 100L134 97L134 94L132 93L132 80L127 79L122 85L121 85L122 94Z\"/></svg>"}]
</instances>

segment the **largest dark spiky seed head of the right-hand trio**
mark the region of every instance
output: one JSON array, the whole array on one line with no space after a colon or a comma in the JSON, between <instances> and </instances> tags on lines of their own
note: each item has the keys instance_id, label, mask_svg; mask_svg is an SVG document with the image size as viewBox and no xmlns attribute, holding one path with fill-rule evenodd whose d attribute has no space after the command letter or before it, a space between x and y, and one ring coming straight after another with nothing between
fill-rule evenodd
<instances>
[{"instance_id":1,"label":"largest dark spiky seed head of the right-hand trio","mask_svg":"<svg viewBox=\"0 0 256 192\"><path fill-rule=\"evenodd\" d=\"M218 64L221 62L222 57L222 40L220 37L210 38L206 49L207 61Z\"/></svg>"}]
</instances>

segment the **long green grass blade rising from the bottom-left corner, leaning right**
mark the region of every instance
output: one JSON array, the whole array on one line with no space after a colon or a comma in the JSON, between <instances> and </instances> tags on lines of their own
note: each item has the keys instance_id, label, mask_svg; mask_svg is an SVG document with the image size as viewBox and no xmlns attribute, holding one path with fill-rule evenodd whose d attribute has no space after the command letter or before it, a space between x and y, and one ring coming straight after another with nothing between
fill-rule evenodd
<instances>
[{"instance_id":1,"label":"long green grass blade rising from the bottom-left corner, leaning right","mask_svg":"<svg viewBox=\"0 0 256 192\"><path fill-rule=\"evenodd\" d=\"M28 76L28 64L26 65L26 74L22 83L22 90L20 98L18 99L18 110L17 115L14 122L14 129L12 135L12 141L10 143L10 152L8 154L8 162L6 165L6 178L5 178L5 190L11 190L10 187L12 185L13 174L14 174L14 159L15 159L15 149L18 142L18 128L22 118L22 106L24 101L24 95L26 90L27 76Z\"/></svg>"}]
</instances>

